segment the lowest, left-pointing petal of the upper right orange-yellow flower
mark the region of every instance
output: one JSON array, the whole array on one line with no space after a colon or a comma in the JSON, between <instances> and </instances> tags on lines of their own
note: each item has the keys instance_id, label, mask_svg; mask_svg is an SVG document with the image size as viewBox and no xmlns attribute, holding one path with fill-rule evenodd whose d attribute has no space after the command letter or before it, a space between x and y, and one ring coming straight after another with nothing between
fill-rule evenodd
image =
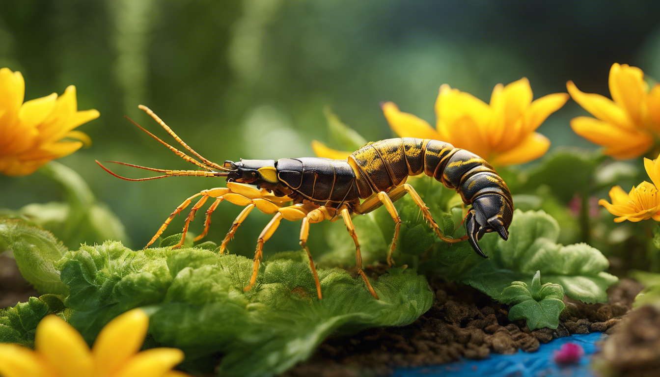
<instances>
[{"instance_id":1,"label":"lowest, left-pointing petal of the upper right orange-yellow flower","mask_svg":"<svg viewBox=\"0 0 660 377\"><path fill-rule=\"evenodd\" d=\"M594 118L573 118L571 127L581 137L608 147L606 153L618 159L641 156L653 145L653 137L646 131L622 129Z\"/></svg>"}]
</instances>

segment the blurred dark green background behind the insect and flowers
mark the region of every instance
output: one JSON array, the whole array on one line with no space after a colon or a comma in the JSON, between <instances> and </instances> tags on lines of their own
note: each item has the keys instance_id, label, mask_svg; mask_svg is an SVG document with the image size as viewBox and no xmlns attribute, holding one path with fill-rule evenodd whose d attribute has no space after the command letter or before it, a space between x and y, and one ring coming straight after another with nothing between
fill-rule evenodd
<instances>
[{"instance_id":1,"label":"blurred dark green background behind the insect and flowers","mask_svg":"<svg viewBox=\"0 0 660 377\"><path fill-rule=\"evenodd\" d=\"M194 168L123 119L169 141L138 104L215 162L312 156L312 139L329 141L326 105L375 141L393 136L380 102L433 124L443 83L488 101L494 85L521 77L535 98L565 92L568 80L609 96L614 62L658 78L659 12L657 1L4 0L0 67L24 75L26 100L75 85L79 109L100 111L79 127L93 145L59 161L115 211L130 246L142 247L185 198L224 180L125 182L101 170L94 159ZM553 147L593 149L569 127L579 115L587 114L569 101L539 131ZM0 208L61 195L39 173L0 176ZM222 203L209 240L220 242L239 212ZM184 218L166 234L180 232ZM202 218L191 227L197 234ZM230 250L251 254L268 220L255 211ZM298 226L282 224L266 250L297 249ZM315 229L312 250L323 243Z\"/></svg>"}]
</instances>

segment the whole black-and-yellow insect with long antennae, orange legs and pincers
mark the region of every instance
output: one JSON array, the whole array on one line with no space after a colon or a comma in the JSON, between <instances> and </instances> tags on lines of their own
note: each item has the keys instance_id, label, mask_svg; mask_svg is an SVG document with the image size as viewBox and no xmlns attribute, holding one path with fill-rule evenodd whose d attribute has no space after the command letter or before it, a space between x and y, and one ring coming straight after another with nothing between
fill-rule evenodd
<instances>
[{"instance_id":1,"label":"whole black-and-yellow insect with long antennae, orange legs and pincers","mask_svg":"<svg viewBox=\"0 0 660 377\"><path fill-rule=\"evenodd\" d=\"M256 207L261 212L274 216L257 239L252 276L245 288L246 291L251 289L257 279L263 244L271 238L282 219L289 221L302 219L300 246L308 254L319 299L322 298L321 285L314 267L314 261L312 261L312 255L306 246L311 223L343 219L355 244L358 273L375 298L378 298L378 295L369 283L364 271L362 271L360 242L358 242L358 236L350 219L352 213L364 215L374 211L381 205L385 206L395 222L395 232L387 254L389 265L393 263L392 252L396 247L399 228L401 228L401 219L392 202L401 199L406 194L413 197L414 202L422 211L424 219L428 221L438 237L445 242L468 240L477 254L486 257L479 248L478 242L484 233L498 232L504 240L508 238L508 228L513 215L513 201L506 183L486 160L474 153L465 151L465 149L454 148L449 143L404 137L368 143L350 154L346 160L302 157L280 158L277 161L225 161L224 164L219 165L207 160L188 147L149 108L142 105L139 108L154 118L178 143L199 160L195 160L195 158L158 139L158 137L133 122L135 125L163 145L166 145L184 160L197 165L203 170L164 170L125 162L108 161L164 173L162 176L131 179L114 174L96 161L104 170L117 178L129 181L155 180L172 176L226 177L227 180L226 188L205 189L185 199L181 205L176 207L165 223L160 226L158 232L145 248L149 247L162 234L170 221L190 205L195 197L201 196L186 217L182 239L174 248L183 245L188 225L195 217L195 213L204 205L207 199L212 197L215 201L207 209L204 230L195 238L195 241L206 236L211 224L211 213L215 211L221 201L226 200L245 207L240 215L236 217L222 241L220 246L220 252L222 253L226 250L226 246L234 236L238 226ZM467 235L461 238L447 238L444 236L438 224L431 217L428 207L424 205L422 198L414 191L413 186L405 183L409 176L422 173L436 178L447 188L456 189L461 195L463 203L472 205L467 217L465 217ZM360 199L364 200L360 202Z\"/></svg>"}]
</instances>

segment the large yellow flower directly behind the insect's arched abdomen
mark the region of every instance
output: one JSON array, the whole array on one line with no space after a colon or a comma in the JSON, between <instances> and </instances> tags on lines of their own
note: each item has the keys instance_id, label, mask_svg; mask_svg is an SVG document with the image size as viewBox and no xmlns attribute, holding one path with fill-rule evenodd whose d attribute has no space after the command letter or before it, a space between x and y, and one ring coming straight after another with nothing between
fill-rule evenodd
<instances>
[{"instance_id":1,"label":"large yellow flower directly behind the insect's arched abdomen","mask_svg":"<svg viewBox=\"0 0 660 377\"><path fill-rule=\"evenodd\" d=\"M446 141L491 164L510 165L534 160L548 151L550 141L535 130L567 100L568 94L554 93L532 102L531 86L523 78L506 86L496 85L490 104L449 85L440 86L435 129L413 114L399 111L392 102L385 102L382 108L399 137ZM315 144L312 147L317 155L331 156L325 145Z\"/></svg>"}]
</instances>

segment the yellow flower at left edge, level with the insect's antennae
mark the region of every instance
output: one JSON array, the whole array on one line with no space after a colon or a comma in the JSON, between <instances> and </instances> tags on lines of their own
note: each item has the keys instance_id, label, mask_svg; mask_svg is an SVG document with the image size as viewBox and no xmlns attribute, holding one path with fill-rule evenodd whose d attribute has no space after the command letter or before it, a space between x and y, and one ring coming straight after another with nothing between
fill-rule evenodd
<instances>
[{"instance_id":1,"label":"yellow flower at left edge, level with the insect's antennae","mask_svg":"<svg viewBox=\"0 0 660 377\"><path fill-rule=\"evenodd\" d=\"M67 156L89 142L82 123L98 118L98 111L79 112L76 88L23 103L25 82L20 72L0 69L0 173L32 174L43 164ZM73 141L62 141L63 139Z\"/></svg>"}]
</instances>

